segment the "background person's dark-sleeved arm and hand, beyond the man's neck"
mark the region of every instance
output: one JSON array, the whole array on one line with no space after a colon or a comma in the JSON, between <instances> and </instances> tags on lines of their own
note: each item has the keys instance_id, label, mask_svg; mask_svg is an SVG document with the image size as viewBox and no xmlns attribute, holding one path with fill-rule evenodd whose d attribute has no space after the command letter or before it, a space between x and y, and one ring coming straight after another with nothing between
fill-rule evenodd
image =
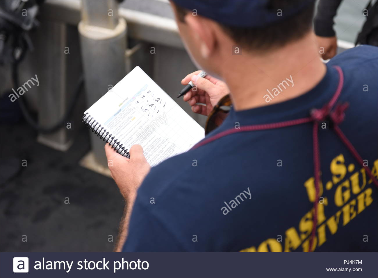
<instances>
[{"instance_id":1,"label":"background person's dark-sleeved arm and hand, beyond the man's neck","mask_svg":"<svg viewBox=\"0 0 378 278\"><path fill-rule=\"evenodd\" d=\"M336 55L337 39L333 29L333 18L336 15L341 1L319 1L314 18L314 31L319 47L324 48L322 58L331 59Z\"/></svg>"}]
</instances>

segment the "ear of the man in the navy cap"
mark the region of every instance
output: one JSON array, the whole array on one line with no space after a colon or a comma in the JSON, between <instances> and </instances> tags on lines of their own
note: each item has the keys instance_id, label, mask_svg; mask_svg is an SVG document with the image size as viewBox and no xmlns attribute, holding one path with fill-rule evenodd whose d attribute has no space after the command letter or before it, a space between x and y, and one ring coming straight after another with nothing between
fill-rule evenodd
<instances>
[{"instance_id":1,"label":"ear of the man in the navy cap","mask_svg":"<svg viewBox=\"0 0 378 278\"><path fill-rule=\"evenodd\" d=\"M185 15L185 22L189 32L191 32L191 37L195 40L195 45L200 50L201 56L205 59L208 58L216 45L212 24L209 24L208 19L200 15L194 16L191 12Z\"/></svg>"}]
</instances>

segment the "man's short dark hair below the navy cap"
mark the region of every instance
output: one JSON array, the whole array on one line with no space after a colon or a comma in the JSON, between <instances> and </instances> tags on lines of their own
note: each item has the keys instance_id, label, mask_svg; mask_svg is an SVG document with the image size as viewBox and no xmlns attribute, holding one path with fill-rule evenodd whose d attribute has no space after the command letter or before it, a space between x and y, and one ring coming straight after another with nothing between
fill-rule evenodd
<instances>
[{"instance_id":1,"label":"man's short dark hair below the navy cap","mask_svg":"<svg viewBox=\"0 0 378 278\"><path fill-rule=\"evenodd\" d=\"M298 2L269 1L267 5L268 9L277 11L278 13L279 10L284 12L285 9L295 8ZM184 18L189 10L177 5L175 5L175 7L177 9L178 19L181 22L185 22ZM246 49L252 51L265 52L266 50L282 47L289 42L303 37L312 27L313 14L314 3L309 3L307 7L296 14L263 27L249 28L218 24L238 45L244 46Z\"/></svg>"}]
</instances>

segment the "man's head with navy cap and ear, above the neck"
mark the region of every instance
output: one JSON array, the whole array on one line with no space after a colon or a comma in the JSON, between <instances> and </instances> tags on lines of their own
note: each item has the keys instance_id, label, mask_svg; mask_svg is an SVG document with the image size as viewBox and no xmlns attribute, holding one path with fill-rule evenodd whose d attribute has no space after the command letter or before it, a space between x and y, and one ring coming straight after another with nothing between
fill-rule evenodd
<instances>
[{"instance_id":1,"label":"man's head with navy cap and ear, above the neck","mask_svg":"<svg viewBox=\"0 0 378 278\"><path fill-rule=\"evenodd\" d=\"M311 30L312 1L171 1L181 38L192 59L218 75L233 46L243 55L265 55Z\"/></svg>"}]
</instances>

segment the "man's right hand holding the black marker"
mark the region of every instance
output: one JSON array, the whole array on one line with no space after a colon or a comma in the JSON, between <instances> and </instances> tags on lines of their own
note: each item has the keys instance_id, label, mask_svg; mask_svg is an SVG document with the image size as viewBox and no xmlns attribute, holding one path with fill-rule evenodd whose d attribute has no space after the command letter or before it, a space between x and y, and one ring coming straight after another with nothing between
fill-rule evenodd
<instances>
[{"instance_id":1,"label":"man's right hand holding the black marker","mask_svg":"<svg viewBox=\"0 0 378 278\"><path fill-rule=\"evenodd\" d=\"M206 75L204 78L197 76L200 72L195 71L194 73L190 73L181 80L181 84L183 85L187 85L189 81L192 81L195 85L184 95L184 101L189 103L194 113L208 116L218 101L226 94L229 94L230 90L225 82L215 77L210 75ZM203 103L206 106L196 103Z\"/></svg>"}]
</instances>

